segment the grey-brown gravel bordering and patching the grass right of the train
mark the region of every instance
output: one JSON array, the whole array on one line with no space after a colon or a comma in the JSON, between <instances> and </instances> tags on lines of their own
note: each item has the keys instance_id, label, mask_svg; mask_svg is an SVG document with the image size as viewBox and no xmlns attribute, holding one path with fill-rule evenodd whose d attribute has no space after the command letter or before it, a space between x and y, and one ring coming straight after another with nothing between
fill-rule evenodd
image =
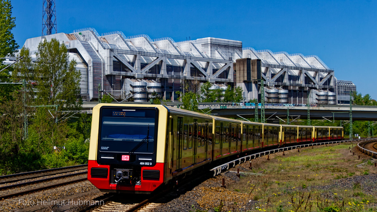
<instances>
[{"instance_id":1,"label":"grey-brown gravel bordering and patching the grass right of the train","mask_svg":"<svg viewBox=\"0 0 377 212\"><path fill-rule=\"evenodd\" d=\"M361 159L370 158L369 156L358 151L356 147L354 147L352 151L355 152L355 155L360 155ZM296 153L297 149L285 151L285 155L287 156L294 155ZM282 156L282 154L282 152L271 154L270 159L276 156ZM267 156L251 160L253 169L258 167L260 163L265 161L267 161ZM221 211L257 210L254 204L260 204L260 202L253 200L252 197L249 197L249 194L242 194L221 187L222 178L225 178L226 186L229 184L236 183L239 180L239 178L236 176L237 168L239 168L239 171L242 176L242 172L250 172L249 166L250 162L246 161L245 163L241 163L229 169L228 172L222 173L221 175L205 180L203 183L199 184L198 186L195 186L190 190L183 190L181 191L181 193L176 194L176 198L164 202L164 204L161 204L156 209L154 209L153 212L199 212L199 210L213 212L218 209L220 203L222 203L223 205ZM342 178L339 180L334 180L333 184L330 185L319 186L317 188L311 187L303 190L329 190L334 187L350 190L354 187L355 184L360 184L362 192L364 192L365 194L375 195L377 192L377 174ZM326 196L324 198L331 199L331 195L333 194L327 193L325 192L323 194Z\"/></svg>"}]
</instances>

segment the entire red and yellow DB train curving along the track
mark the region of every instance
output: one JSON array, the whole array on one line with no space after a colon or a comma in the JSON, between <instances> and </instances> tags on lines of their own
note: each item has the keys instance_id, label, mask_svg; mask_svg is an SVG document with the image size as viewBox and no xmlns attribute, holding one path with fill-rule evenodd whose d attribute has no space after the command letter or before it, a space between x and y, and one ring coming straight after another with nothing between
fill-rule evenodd
<instances>
[{"instance_id":1,"label":"entire red and yellow DB train curving along the track","mask_svg":"<svg viewBox=\"0 0 377 212\"><path fill-rule=\"evenodd\" d=\"M104 192L150 194L230 156L342 138L342 127L256 123L153 104L98 104L88 180Z\"/></svg>"}]
</instances>

